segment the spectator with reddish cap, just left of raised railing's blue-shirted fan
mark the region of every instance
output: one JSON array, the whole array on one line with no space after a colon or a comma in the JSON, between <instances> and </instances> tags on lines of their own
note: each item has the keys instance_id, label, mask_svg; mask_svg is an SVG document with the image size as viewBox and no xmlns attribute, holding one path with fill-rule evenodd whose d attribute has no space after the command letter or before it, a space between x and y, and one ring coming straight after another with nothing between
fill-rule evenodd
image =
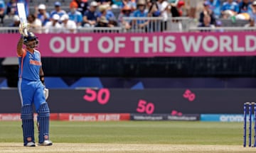
<instances>
[{"instance_id":1,"label":"spectator with reddish cap, just left of raised railing's blue-shirted fan","mask_svg":"<svg viewBox=\"0 0 256 153\"><path fill-rule=\"evenodd\" d=\"M119 13L118 16L118 23L119 26L124 27L126 30L129 30L131 28L131 21L130 20L124 20L124 17L130 17L131 16L131 8L129 6L124 6L122 8L122 11Z\"/></svg>"}]
</instances>

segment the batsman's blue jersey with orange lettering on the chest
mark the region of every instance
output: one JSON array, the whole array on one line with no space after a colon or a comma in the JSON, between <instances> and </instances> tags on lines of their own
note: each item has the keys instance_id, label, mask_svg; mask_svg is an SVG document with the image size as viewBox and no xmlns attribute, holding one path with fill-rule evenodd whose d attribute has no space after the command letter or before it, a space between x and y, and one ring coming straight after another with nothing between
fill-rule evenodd
<instances>
[{"instance_id":1,"label":"batsman's blue jersey with orange lettering on the chest","mask_svg":"<svg viewBox=\"0 0 256 153\"><path fill-rule=\"evenodd\" d=\"M30 81L40 81L41 54L38 50L33 53L23 50L23 55L18 57L18 77Z\"/></svg>"}]
</instances>

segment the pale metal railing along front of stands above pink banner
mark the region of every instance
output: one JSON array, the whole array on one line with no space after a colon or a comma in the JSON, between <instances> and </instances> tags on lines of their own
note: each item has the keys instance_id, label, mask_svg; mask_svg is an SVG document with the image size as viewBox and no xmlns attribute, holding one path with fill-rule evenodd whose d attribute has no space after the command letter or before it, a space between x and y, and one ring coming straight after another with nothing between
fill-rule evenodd
<instances>
[{"instance_id":1,"label":"pale metal railing along front of stands above pink banner","mask_svg":"<svg viewBox=\"0 0 256 153\"><path fill-rule=\"evenodd\" d=\"M188 17L169 17L166 21L162 17L123 17L123 21L131 23L127 29L123 24L112 27L78 28L77 33L152 33L152 32L223 32L223 31L255 31L255 27L220 26L215 28L197 27L198 22ZM148 22L144 28L139 24ZM231 21L230 21L231 22ZM246 23L242 21L243 23ZM32 31L32 29L31 29ZM41 30L43 31L43 29ZM34 32L34 31L33 31ZM17 27L0 27L0 33L18 33ZM36 33L36 32L34 32Z\"/></svg>"}]
</instances>

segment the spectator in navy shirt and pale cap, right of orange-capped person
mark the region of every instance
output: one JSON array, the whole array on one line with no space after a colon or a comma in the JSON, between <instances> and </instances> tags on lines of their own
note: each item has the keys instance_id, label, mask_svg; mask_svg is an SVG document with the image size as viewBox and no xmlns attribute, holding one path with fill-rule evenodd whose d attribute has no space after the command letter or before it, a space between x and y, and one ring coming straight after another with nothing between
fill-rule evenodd
<instances>
[{"instance_id":1,"label":"spectator in navy shirt and pale cap, right of orange-capped person","mask_svg":"<svg viewBox=\"0 0 256 153\"><path fill-rule=\"evenodd\" d=\"M94 27L97 23L97 18L99 18L100 13L97 10L97 2L92 1L90 3L90 8L85 11L82 18L85 27Z\"/></svg>"}]
</instances>

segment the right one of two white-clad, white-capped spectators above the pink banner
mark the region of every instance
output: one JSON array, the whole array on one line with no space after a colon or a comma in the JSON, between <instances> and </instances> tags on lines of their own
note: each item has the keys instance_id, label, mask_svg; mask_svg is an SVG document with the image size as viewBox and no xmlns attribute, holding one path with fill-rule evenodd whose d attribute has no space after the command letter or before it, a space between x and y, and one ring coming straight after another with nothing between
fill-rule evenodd
<instances>
[{"instance_id":1,"label":"right one of two white-clad, white-capped spectators above the pink banner","mask_svg":"<svg viewBox=\"0 0 256 153\"><path fill-rule=\"evenodd\" d=\"M76 33L77 31L77 26L75 24L75 21L69 20L68 14L64 14L61 16L60 21L61 27L62 27L62 32L63 33Z\"/></svg>"}]
</instances>

